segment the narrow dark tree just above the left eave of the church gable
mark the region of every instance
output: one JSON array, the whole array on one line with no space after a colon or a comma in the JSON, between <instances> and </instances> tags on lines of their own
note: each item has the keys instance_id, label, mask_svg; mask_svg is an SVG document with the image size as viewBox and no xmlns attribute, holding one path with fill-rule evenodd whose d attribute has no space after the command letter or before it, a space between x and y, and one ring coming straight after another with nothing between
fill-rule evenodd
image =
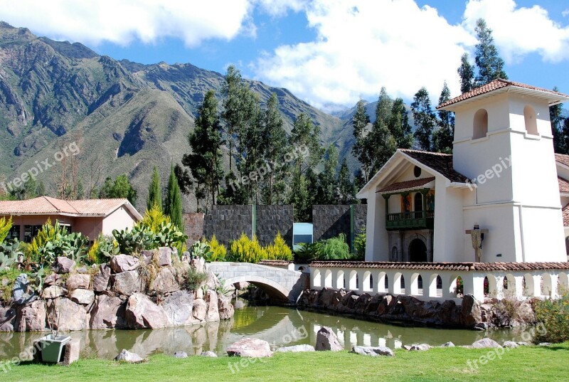
<instances>
[{"instance_id":1,"label":"narrow dark tree just above the left eave of the church gable","mask_svg":"<svg viewBox=\"0 0 569 382\"><path fill-rule=\"evenodd\" d=\"M366 104L363 100L358 101L356 112L353 114L351 123L353 125L353 137L356 139L356 142L354 142L351 148L351 152L360 162L361 172L367 183L373 166L373 153L370 145L371 138L367 131L370 120L366 113Z\"/></svg>"}]
</instances>

